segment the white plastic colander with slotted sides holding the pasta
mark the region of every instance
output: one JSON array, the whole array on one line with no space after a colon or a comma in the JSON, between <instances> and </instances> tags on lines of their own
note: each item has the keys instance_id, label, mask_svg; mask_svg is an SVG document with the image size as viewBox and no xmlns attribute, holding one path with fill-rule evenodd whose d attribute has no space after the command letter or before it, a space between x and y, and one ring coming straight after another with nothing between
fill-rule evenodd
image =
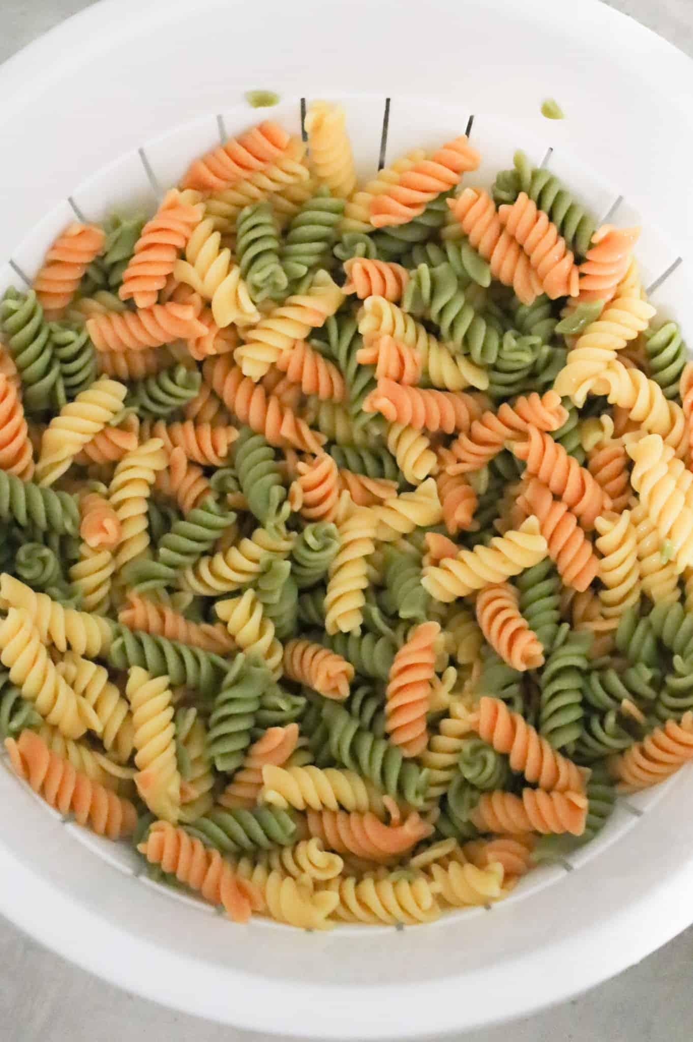
<instances>
[{"instance_id":1,"label":"white plastic colander with slotted sides holding the pasta","mask_svg":"<svg viewBox=\"0 0 693 1042\"><path fill-rule=\"evenodd\" d=\"M465 130L490 184L523 148L597 217L642 221L652 302L693 330L693 65L593 2L107 0L0 69L0 293L75 213L153 207L190 157L301 99L340 101L361 175ZM554 96L566 119L540 116ZM389 100L386 100L389 99ZM473 119L472 119L473 118ZM131 991L258 1031L414 1038L604 981L693 921L693 773L621 800L602 835L492 909L434 925L233 926L0 768L0 912Z\"/></svg>"}]
</instances>

